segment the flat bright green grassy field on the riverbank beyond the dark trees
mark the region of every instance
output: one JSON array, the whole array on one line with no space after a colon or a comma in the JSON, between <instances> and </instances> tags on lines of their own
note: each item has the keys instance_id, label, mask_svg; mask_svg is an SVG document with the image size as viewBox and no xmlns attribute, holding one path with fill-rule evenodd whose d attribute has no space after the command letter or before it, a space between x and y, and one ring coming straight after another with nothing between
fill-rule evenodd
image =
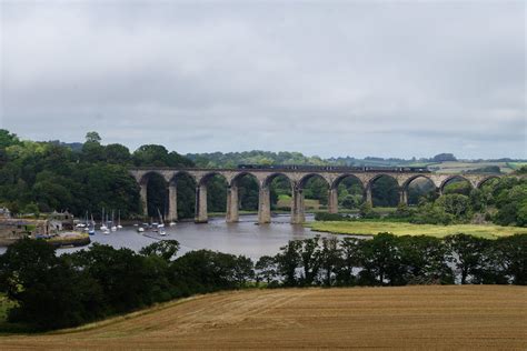
<instances>
[{"instance_id":1,"label":"flat bright green grassy field on the riverbank beyond the dark trees","mask_svg":"<svg viewBox=\"0 0 527 351\"><path fill-rule=\"evenodd\" d=\"M411 224L404 222L310 222L307 227L314 231L330 232L337 234L375 235L379 232L390 232L396 235L431 235L444 238L449 234L465 233L481 238L496 239L498 237L513 235L516 233L527 233L527 228L483 225L483 224L456 224L456 225L434 225L434 224Z\"/></svg>"}]
</instances>

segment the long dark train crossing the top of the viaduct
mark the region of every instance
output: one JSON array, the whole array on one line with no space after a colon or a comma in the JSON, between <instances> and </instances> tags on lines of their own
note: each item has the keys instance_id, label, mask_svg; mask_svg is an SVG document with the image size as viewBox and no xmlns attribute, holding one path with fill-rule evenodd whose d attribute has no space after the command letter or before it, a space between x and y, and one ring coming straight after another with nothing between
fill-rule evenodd
<instances>
[{"instance_id":1,"label":"long dark train crossing the top of the viaduct","mask_svg":"<svg viewBox=\"0 0 527 351\"><path fill-rule=\"evenodd\" d=\"M354 167L354 166L308 166L308 164L238 164L241 170L288 170L288 171L329 171L329 172L394 172L431 173L422 167Z\"/></svg>"}]
</instances>

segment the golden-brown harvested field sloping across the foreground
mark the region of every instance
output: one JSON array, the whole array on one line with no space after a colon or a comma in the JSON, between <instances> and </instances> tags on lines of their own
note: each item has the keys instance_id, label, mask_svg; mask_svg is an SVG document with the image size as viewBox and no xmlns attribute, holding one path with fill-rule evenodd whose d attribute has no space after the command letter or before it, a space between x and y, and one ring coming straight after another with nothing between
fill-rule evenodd
<instances>
[{"instance_id":1,"label":"golden-brown harvested field sloping across the foreground","mask_svg":"<svg viewBox=\"0 0 527 351\"><path fill-rule=\"evenodd\" d=\"M407 287L226 292L0 349L527 349L527 288Z\"/></svg>"}]
</instances>

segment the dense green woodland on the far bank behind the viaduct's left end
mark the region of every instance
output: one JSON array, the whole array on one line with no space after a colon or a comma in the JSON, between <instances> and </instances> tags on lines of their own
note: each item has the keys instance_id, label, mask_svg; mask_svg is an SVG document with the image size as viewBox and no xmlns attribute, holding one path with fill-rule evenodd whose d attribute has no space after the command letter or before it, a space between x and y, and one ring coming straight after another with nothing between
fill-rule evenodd
<instances>
[{"instance_id":1,"label":"dense green woodland on the far bank behind the viaduct's left end","mask_svg":"<svg viewBox=\"0 0 527 351\"><path fill-rule=\"evenodd\" d=\"M121 144L103 146L100 141L96 132L89 132L82 148L73 151L57 142L21 141L0 130L0 205L13 213L69 210L76 215L89 211L97 218L106 208L120 210L123 218L136 217L141 214L139 187L128 167L193 164L161 146L142 146L130 153ZM155 190L157 185L156 181L149 184ZM191 192L193 198L193 187ZM162 197L156 191L152 194ZM163 202L155 199L153 203L156 200ZM155 210L151 213L157 213Z\"/></svg>"}]
</instances>

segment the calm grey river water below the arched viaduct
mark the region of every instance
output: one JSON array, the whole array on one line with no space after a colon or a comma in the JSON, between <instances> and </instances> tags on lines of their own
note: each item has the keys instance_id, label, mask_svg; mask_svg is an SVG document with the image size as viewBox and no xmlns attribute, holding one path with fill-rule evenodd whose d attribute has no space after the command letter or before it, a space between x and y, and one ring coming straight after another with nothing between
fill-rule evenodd
<instances>
[{"instance_id":1,"label":"calm grey river water below the arched viaduct","mask_svg":"<svg viewBox=\"0 0 527 351\"><path fill-rule=\"evenodd\" d=\"M311 221L312 215L307 215L306 220ZM279 248L289 240L312 238L317 234L302 225L291 225L289 223L290 217L286 214L274 217L269 224L258 225L256 221L257 215L241 215L238 223L226 223L225 218L212 218L206 224L180 222L175 227L167 227L166 237L153 232L139 234L135 227L129 227L109 235L98 232L90 238L92 242L136 251L160 239L175 239L181 244L179 254L192 250L209 249L258 259L261 255L276 254ZM59 249L59 252L73 252L83 248ZM4 250L4 248L0 248L0 253Z\"/></svg>"}]
</instances>

